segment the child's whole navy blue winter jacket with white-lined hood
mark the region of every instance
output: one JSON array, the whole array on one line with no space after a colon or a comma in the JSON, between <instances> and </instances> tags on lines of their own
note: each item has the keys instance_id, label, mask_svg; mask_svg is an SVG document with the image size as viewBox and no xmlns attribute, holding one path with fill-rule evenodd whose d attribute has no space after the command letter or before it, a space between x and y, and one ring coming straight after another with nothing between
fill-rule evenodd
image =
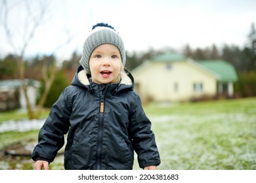
<instances>
[{"instance_id":1,"label":"child's whole navy blue winter jacket with white-lined hood","mask_svg":"<svg viewBox=\"0 0 256 183\"><path fill-rule=\"evenodd\" d=\"M133 84L131 73L121 75L119 84L95 84L80 66L41 127L32 159L52 162L68 134L65 169L133 169L134 151L141 168L160 165L151 122Z\"/></svg>"}]
</instances>

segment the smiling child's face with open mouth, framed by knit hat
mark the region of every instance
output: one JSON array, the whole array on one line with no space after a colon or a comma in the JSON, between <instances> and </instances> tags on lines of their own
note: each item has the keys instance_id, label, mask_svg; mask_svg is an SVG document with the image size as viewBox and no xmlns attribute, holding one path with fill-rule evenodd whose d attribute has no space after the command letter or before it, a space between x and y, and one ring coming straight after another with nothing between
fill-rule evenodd
<instances>
[{"instance_id":1,"label":"smiling child's face with open mouth, framed by knit hat","mask_svg":"<svg viewBox=\"0 0 256 183\"><path fill-rule=\"evenodd\" d=\"M121 71L121 54L112 44L102 44L95 48L89 59L91 78L98 84L115 83Z\"/></svg>"}]
</instances>

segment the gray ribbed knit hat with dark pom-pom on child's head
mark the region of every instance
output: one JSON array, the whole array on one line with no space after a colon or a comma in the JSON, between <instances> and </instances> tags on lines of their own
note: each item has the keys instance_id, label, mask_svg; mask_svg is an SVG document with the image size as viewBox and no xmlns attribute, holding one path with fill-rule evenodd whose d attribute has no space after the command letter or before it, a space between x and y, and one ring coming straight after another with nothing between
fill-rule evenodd
<instances>
[{"instance_id":1,"label":"gray ribbed knit hat with dark pom-pom on child's head","mask_svg":"<svg viewBox=\"0 0 256 183\"><path fill-rule=\"evenodd\" d=\"M91 74L89 67L89 59L91 58L91 54L93 53L93 50L95 50L95 48L100 46L101 44L113 44L117 46L121 54L123 67L125 66L126 58L123 40L116 32L114 27L108 24L98 23L93 26L89 36L85 40L85 44L83 46L83 53L79 61L87 74Z\"/></svg>"}]
</instances>

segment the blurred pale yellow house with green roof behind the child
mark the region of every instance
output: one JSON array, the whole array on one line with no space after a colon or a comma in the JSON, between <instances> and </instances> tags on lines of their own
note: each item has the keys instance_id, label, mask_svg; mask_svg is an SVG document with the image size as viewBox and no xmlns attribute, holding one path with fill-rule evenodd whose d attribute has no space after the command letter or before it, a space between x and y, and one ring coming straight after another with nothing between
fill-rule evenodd
<instances>
[{"instance_id":1,"label":"blurred pale yellow house with green roof behind the child","mask_svg":"<svg viewBox=\"0 0 256 183\"><path fill-rule=\"evenodd\" d=\"M234 95L238 76L223 60L194 61L179 54L161 54L131 71L135 92L143 101L189 101L218 94Z\"/></svg>"}]
</instances>

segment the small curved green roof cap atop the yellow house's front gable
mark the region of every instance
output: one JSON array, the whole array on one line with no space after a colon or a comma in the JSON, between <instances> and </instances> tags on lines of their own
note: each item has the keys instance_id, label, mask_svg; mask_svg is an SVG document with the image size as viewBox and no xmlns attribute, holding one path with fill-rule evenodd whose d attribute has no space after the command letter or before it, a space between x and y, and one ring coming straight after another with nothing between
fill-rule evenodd
<instances>
[{"instance_id":1,"label":"small curved green roof cap atop the yellow house's front gable","mask_svg":"<svg viewBox=\"0 0 256 183\"><path fill-rule=\"evenodd\" d=\"M187 59L186 57L181 56L179 54L167 53L167 54L160 54L158 56L155 56L154 58L150 59L150 61L169 62L169 61L184 61L186 59Z\"/></svg>"}]
</instances>

